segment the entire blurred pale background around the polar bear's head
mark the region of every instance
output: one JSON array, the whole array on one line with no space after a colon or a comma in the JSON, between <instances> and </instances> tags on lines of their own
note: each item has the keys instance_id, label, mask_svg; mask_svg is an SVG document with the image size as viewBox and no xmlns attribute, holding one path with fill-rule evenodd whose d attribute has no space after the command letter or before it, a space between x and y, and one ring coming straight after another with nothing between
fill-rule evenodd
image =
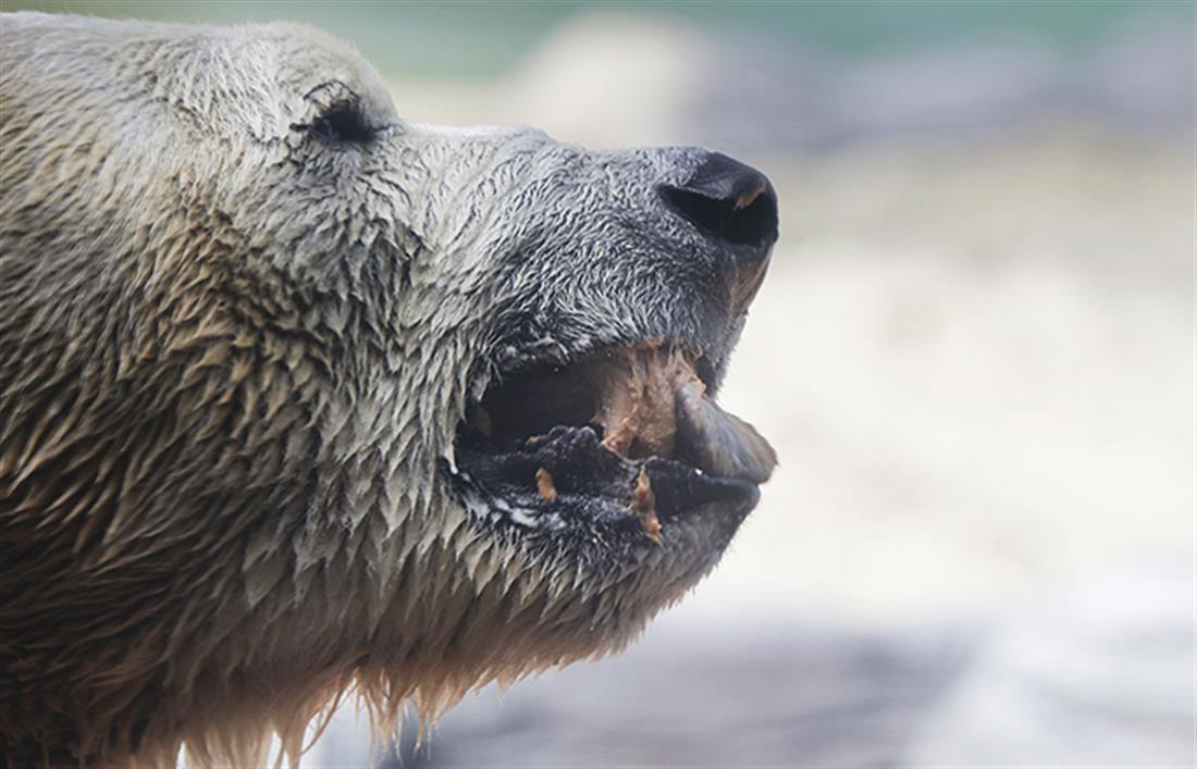
<instances>
[{"instance_id":1,"label":"entire blurred pale background around the polar bear's head","mask_svg":"<svg viewBox=\"0 0 1197 769\"><path fill-rule=\"evenodd\" d=\"M4 7L308 22L411 120L772 177L723 395L760 507L628 653L403 765L1193 765L1193 2ZM369 751L347 710L309 762Z\"/></svg>"}]
</instances>

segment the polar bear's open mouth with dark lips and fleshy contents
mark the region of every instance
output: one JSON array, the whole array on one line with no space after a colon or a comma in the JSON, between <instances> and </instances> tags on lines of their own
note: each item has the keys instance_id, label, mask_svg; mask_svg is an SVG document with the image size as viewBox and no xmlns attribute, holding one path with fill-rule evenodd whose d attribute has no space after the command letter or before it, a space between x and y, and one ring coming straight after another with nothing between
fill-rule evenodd
<instances>
[{"instance_id":1,"label":"polar bear's open mouth with dark lips and fleshy contents","mask_svg":"<svg viewBox=\"0 0 1197 769\"><path fill-rule=\"evenodd\" d=\"M700 354L648 341L504 378L458 428L462 499L528 530L657 544L711 503L742 518L777 458L715 403L703 370Z\"/></svg>"}]
</instances>

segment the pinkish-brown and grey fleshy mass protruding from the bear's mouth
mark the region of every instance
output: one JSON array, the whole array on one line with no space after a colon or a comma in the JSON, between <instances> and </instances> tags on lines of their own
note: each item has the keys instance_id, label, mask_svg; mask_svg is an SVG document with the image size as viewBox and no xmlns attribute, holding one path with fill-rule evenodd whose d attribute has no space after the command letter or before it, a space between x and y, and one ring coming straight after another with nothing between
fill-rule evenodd
<instances>
[{"instance_id":1,"label":"pinkish-brown and grey fleshy mass protruding from the bear's mouth","mask_svg":"<svg viewBox=\"0 0 1197 769\"><path fill-rule=\"evenodd\" d=\"M683 454L704 472L768 480L777 454L743 420L707 395L689 356L675 346L648 342L608 350L584 377L596 395L602 445L622 457Z\"/></svg>"}]
</instances>

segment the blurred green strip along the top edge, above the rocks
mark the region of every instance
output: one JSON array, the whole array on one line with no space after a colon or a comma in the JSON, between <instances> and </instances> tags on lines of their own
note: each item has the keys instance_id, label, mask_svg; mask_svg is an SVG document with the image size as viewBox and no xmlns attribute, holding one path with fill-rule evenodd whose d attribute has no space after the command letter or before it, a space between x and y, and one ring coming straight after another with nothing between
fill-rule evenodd
<instances>
[{"instance_id":1,"label":"blurred green strip along the top edge, above the rocks","mask_svg":"<svg viewBox=\"0 0 1197 769\"><path fill-rule=\"evenodd\" d=\"M1192 25L1187 0L773 1L773 2L205 2L0 0L5 11L40 10L192 23L293 20L351 41L391 75L488 77L514 66L555 26L588 11L651 14L731 36L772 38L831 59L885 57L1031 38L1083 53L1141 23Z\"/></svg>"}]
</instances>

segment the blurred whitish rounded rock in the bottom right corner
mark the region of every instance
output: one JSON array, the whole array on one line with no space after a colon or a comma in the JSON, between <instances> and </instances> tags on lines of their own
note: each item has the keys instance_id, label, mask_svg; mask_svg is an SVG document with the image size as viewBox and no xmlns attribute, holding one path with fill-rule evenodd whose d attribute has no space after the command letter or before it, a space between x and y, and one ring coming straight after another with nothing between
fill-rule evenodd
<instances>
[{"instance_id":1,"label":"blurred whitish rounded rock in the bottom right corner","mask_svg":"<svg viewBox=\"0 0 1197 769\"><path fill-rule=\"evenodd\" d=\"M980 648L910 767L1193 765L1191 574L1106 574Z\"/></svg>"}]
</instances>

